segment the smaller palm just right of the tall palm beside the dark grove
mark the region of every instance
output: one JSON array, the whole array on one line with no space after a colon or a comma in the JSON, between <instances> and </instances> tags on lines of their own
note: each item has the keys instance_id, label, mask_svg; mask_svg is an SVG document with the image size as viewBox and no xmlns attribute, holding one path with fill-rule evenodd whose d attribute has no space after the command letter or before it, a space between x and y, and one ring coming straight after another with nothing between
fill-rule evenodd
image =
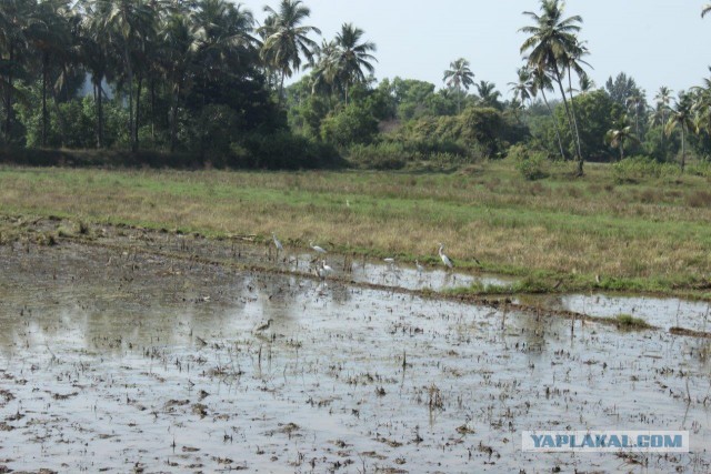
<instances>
[{"instance_id":1,"label":"smaller palm just right of the tall palm beside the dark grove","mask_svg":"<svg viewBox=\"0 0 711 474\"><path fill-rule=\"evenodd\" d=\"M343 23L341 31L336 36L336 49L333 51L333 62L336 73L343 87L346 104L348 105L348 92L351 85L365 82L363 69L370 74L375 72L375 68L370 61L375 61L375 43L372 41L361 41L364 31L353 27L352 23Z\"/></svg>"}]
</instances>

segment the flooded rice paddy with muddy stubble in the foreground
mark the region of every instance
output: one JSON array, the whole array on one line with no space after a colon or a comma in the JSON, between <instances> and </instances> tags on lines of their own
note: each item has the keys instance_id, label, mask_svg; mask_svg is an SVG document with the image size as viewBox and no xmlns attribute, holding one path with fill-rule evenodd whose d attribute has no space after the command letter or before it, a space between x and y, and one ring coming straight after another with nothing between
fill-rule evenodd
<instances>
[{"instance_id":1,"label":"flooded rice paddy with muddy stubble in the foreground","mask_svg":"<svg viewBox=\"0 0 711 474\"><path fill-rule=\"evenodd\" d=\"M0 471L711 470L708 339L238 269L194 255L270 256L110 232L106 246L0 246ZM521 451L523 430L587 428L688 430L691 453Z\"/></svg>"}]
</instances>

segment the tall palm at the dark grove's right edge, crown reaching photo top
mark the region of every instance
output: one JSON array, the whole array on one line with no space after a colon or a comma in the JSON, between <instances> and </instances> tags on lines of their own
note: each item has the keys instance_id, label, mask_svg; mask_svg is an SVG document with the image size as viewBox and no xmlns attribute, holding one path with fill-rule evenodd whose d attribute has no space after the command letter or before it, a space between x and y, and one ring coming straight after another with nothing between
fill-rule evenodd
<instances>
[{"instance_id":1,"label":"tall palm at the dark grove's right edge, crown reaching photo top","mask_svg":"<svg viewBox=\"0 0 711 474\"><path fill-rule=\"evenodd\" d=\"M264 38L261 57L264 63L281 73L279 84L279 103L281 104L284 79L299 71L302 56L307 60L313 58L313 50L318 44L309 38L309 34L311 32L321 34L321 30L301 24L311 14L311 10L302 6L301 0L281 0L278 11L271 7L264 7L264 11L269 17L260 28Z\"/></svg>"}]
</instances>

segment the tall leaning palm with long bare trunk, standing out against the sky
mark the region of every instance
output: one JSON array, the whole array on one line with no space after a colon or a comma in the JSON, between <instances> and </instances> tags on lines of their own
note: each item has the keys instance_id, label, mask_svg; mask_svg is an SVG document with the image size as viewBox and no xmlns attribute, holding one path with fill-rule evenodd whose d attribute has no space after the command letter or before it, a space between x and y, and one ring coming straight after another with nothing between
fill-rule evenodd
<instances>
[{"instance_id":1,"label":"tall leaning palm with long bare trunk, standing out against the sky","mask_svg":"<svg viewBox=\"0 0 711 474\"><path fill-rule=\"evenodd\" d=\"M571 134L575 139L578 174L581 175L583 158L580 152L580 139L575 133L574 118L565 97L563 75L567 69L572 68L572 61L579 59L584 51L575 36L580 31L579 23L582 22L582 18L579 16L563 18L563 8L564 3L560 3L559 0L541 0L542 14L523 12L533 20L534 24L519 30L530 34L521 44L521 53L528 52L529 65L550 72L551 79L559 87Z\"/></svg>"}]
</instances>

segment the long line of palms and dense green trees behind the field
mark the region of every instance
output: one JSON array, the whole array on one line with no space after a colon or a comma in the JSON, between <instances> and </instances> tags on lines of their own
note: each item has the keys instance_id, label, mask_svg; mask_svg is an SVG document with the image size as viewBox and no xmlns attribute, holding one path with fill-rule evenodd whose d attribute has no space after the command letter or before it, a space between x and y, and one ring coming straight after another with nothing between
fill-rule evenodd
<instances>
[{"instance_id":1,"label":"long line of palms and dense green trees behind the field","mask_svg":"<svg viewBox=\"0 0 711 474\"><path fill-rule=\"evenodd\" d=\"M708 14L711 6L702 8ZM374 80L375 43L332 39L301 0L253 13L227 0L3 0L6 147L160 150L223 164L402 168L502 158L511 145L571 160L709 154L711 79L649 104L620 73L597 88L582 18L560 0L523 12L523 64L503 100L454 59L438 84ZM303 77L287 85L300 71ZM473 88L473 93L470 90Z\"/></svg>"}]
</instances>

